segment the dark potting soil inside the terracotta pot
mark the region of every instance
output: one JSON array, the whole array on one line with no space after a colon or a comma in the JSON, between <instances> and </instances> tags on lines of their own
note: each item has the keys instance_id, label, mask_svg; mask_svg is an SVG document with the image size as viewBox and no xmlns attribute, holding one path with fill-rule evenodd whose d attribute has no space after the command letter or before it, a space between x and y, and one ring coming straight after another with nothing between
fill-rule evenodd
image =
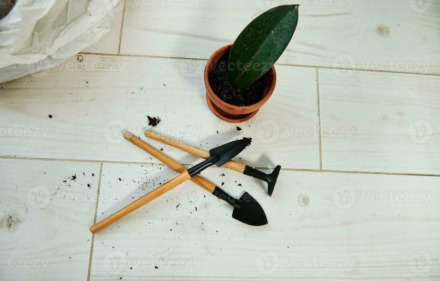
<instances>
[{"instance_id":1,"label":"dark potting soil inside the terracotta pot","mask_svg":"<svg viewBox=\"0 0 440 281\"><path fill-rule=\"evenodd\" d=\"M250 106L259 102L267 92L267 74L264 74L245 88L235 89L232 86L231 80L229 80L227 70L228 56L229 54L226 54L220 58L209 71L208 80L214 93L222 101L233 106Z\"/></svg>"}]
</instances>

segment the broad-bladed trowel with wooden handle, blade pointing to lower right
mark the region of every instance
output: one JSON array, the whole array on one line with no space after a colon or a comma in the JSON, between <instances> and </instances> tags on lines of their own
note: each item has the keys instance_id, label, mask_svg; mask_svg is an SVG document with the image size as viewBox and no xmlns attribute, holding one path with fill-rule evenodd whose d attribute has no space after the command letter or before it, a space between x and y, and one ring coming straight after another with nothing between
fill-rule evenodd
<instances>
[{"instance_id":1,"label":"broad-bladed trowel with wooden handle, blade pointing to lower right","mask_svg":"<svg viewBox=\"0 0 440 281\"><path fill-rule=\"evenodd\" d=\"M159 150L154 149L152 146L136 138L136 136L129 132L124 133L124 138L140 149L150 153L151 156L156 157L159 161L172 168L174 171L182 173L187 170L182 164L174 161ZM191 178L191 181L209 191L209 193L212 193L216 197L231 204L234 207L232 218L251 226L262 226L268 223L263 208L261 208L260 204L249 193L245 192L240 199L237 199L224 192L220 187L217 187L213 185L213 183L202 178L200 175L195 175Z\"/></svg>"}]
</instances>

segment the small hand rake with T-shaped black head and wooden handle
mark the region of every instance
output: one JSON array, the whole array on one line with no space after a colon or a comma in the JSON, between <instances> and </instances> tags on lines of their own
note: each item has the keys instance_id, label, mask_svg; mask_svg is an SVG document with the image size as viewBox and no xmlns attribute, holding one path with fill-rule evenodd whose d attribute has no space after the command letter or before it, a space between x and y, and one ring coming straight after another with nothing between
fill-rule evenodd
<instances>
[{"instance_id":1,"label":"small hand rake with T-shaped black head and wooden handle","mask_svg":"<svg viewBox=\"0 0 440 281\"><path fill-rule=\"evenodd\" d=\"M190 146L189 144L180 142L178 140L165 137L164 135L160 135L154 131L150 131L150 130L145 131L145 136L150 139L155 139L159 142L183 150L187 153L191 153L192 155L200 158L206 159L209 157L209 152L206 150L202 150L201 148ZM278 179L279 171L281 170L281 166L277 165L270 174L266 174L264 172L261 172L260 170L257 170L256 168L232 160L227 161L227 163L225 163L223 166L231 170L237 171L239 173L242 173L244 175L249 175L251 177L264 180L265 182L268 183L269 196L272 196L272 192L274 191L276 180Z\"/></svg>"}]
</instances>

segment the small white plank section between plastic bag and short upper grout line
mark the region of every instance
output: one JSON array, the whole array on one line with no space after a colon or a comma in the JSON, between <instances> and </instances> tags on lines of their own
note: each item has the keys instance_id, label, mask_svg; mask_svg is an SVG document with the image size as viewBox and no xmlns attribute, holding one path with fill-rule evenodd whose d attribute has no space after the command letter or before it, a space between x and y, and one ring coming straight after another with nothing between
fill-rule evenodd
<instances>
[{"instance_id":1,"label":"small white plank section between plastic bag and short upper grout line","mask_svg":"<svg viewBox=\"0 0 440 281\"><path fill-rule=\"evenodd\" d=\"M121 33L122 10L124 8L124 0L120 0L116 7L113 8L114 19L110 24L110 31L104 35L98 42L83 50L89 53L117 54L119 47L119 36Z\"/></svg>"}]
</instances>

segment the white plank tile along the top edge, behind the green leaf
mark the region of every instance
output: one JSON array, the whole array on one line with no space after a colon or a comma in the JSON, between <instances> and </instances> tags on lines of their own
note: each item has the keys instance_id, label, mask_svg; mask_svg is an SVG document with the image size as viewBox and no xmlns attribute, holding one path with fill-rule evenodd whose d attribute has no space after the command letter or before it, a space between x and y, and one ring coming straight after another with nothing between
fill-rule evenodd
<instances>
[{"instance_id":1,"label":"white plank tile along the top edge, behind the green leaf","mask_svg":"<svg viewBox=\"0 0 440 281\"><path fill-rule=\"evenodd\" d=\"M269 7L300 4L279 63L438 74L440 2L416 2L127 0L121 53L209 58Z\"/></svg>"}]
</instances>

